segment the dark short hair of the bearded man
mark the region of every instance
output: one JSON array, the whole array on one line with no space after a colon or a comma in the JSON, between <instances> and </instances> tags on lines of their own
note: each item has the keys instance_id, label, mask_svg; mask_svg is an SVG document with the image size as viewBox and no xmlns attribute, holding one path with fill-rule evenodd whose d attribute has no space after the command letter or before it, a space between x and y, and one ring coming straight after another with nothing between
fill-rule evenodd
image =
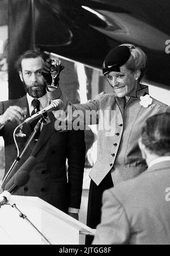
<instances>
[{"instance_id":1,"label":"dark short hair of the bearded man","mask_svg":"<svg viewBox=\"0 0 170 256\"><path fill-rule=\"evenodd\" d=\"M44 53L37 50L29 50L27 52L24 52L21 56L19 56L15 64L15 67L18 70L18 72L22 71L22 60L24 58L37 58L37 57L41 57L45 61L46 56Z\"/></svg>"}]
</instances>

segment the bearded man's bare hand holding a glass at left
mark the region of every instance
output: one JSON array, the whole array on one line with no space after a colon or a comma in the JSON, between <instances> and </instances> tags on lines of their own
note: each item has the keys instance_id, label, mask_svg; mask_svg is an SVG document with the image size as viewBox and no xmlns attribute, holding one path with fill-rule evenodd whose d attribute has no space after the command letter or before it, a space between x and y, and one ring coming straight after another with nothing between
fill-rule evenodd
<instances>
[{"instance_id":1,"label":"bearded man's bare hand holding a glass at left","mask_svg":"<svg viewBox=\"0 0 170 256\"><path fill-rule=\"evenodd\" d=\"M24 120L24 117L23 117L24 114L25 113L23 113L22 108L18 106L8 107L5 113L0 116L0 127L2 125L5 125L8 121L11 121L11 122L16 121L19 124L20 121Z\"/></svg>"}]
</instances>

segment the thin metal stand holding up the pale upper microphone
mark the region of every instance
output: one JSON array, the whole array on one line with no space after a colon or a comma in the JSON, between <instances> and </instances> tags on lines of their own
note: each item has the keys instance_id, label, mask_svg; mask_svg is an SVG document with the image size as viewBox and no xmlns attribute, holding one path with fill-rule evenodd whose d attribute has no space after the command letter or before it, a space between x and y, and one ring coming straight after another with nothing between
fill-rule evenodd
<instances>
[{"instance_id":1,"label":"thin metal stand holding up the pale upper microphone","mask_svg":"<svg viewBox=\"0 0 170 256\"><path fill-rule=\"evenodd\" d=\"M18 145L16 143L16 139L15 139L15 132L16 130L22 126L23 124L20 124L18 125L18 127L15 128L14 130L14 134L13 134L13 137L14 137L14 141L15 141L15 145L16 145L16 148L18 150L18 155L16 157L16 160L12 163L11 167L10 167L10 170L8 170L5 178L3 179L2 181L2 184L1 184L1 188L5 188L5 185L6 183L8 182L8 180L10 179L11 175L13 174L13 171L15 169L15 167L18 165L18 162L19 160L22 158L23 154L25 153L25 151L27 150L29 144L31 143L31 141L33 140L33 137L36 135L37 131L39 131L40 127L41 127L41 124L42 122L44 124L46 124L46 121L45 121L45 118L46 118L46 113L45 115L42 115L41 116L41 119L38 121L38 123L36 124L35 128L33 129L33 132L31 134L31 136L29 137L28 141L26 142L25 146L24 146L24 149L23 149L23 152L19 155L19 149L18 149Z\"/></svg>"}]
</instances>

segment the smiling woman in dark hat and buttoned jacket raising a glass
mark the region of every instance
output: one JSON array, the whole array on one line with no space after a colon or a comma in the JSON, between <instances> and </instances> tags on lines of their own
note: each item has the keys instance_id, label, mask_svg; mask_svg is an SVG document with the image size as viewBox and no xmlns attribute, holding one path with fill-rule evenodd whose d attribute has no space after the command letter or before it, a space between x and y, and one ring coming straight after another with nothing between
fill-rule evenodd
<instances>
[{"instance_id":1,"label":"smiling woman in dark hat and buttoned jacket raising a glass","mask_svg":"<svg viewBox=\"0 0 170 256\"><path fill-rule=\"evenodd\" d=\"M148 87L142 85L146 65L146 54L140 48L131 44L113 48L103 64L104 78L113 88L113 94L101 93L86 104L72 105L73 111L81 110L84 116L86 111L91 110L107 110L114 116L110 123L114 126L112 132L99 129L98 133L97 161L90 173L88 198L87 225L91 228L96 228L100 223L103 191L147 169L138 147L142 125L148 117L170 109L152 98L148 94ZM46 65L46 70L48 68ZM56 90L49 86L47 93L50 99L61 98L65 107L70 104L59 88ZM84 118L86 123L88 120ZM91 241L89 237L86 243L90 244Z\"/></svg>"}]
</instances>

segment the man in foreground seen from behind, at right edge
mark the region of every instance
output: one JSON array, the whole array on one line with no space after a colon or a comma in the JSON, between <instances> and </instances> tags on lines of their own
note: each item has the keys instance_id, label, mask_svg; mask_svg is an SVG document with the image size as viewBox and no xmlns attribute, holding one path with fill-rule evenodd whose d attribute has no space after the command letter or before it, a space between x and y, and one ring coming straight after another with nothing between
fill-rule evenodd
<instances>
[{"instance_id":1,"label":"man in foreground seen from behind, at right edge","mask_svg":"<svg viewBox=\"0 0 170 256\"><path fill-rule=\"evenodd\" d=\"M103 194L93 244L170 244L170 114L150 117L139 140L148 169Z\"/></svg>"}]
</instances>

